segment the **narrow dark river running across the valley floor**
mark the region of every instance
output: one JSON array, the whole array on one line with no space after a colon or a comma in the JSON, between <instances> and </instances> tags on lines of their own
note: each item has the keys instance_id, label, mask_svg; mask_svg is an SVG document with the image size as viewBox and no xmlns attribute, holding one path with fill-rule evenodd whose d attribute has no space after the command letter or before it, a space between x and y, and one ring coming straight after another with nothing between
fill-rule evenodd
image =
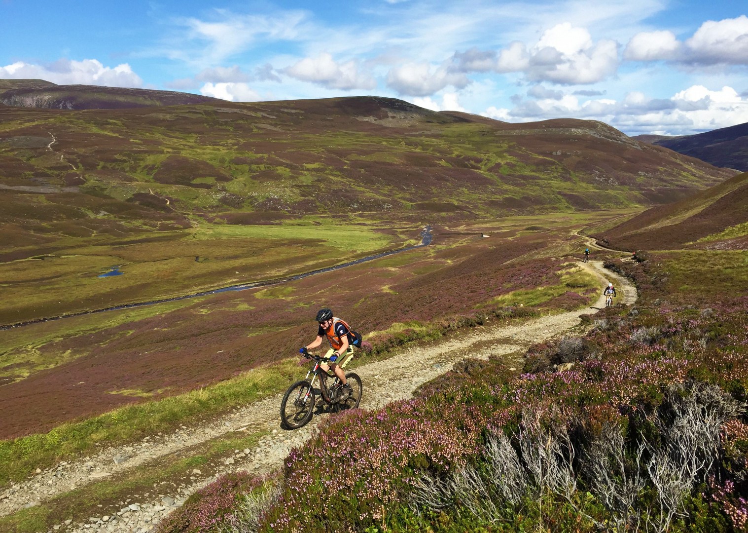
<instances>
[{"instance_id":1,"label":"narrow dark river running across the valley floor","mask_svg":"<svg viewBox=\"0 0 748 533\"><path fill-rule=\"evenodd\" d=\"M203 290L203 292L200 292L200 293L185 294L183 296L174 296L173 298L156 299L156 300L150 300L149 302L128 303L125 305L114 305L112 307L106 307L102 309L92 309L91 311L79 311L77 313L61 314L58 317L37 318L34 320L28 320L26 322L18 322L15 324L7 324L4 326L0 326L0 331L3 331L4 329L29 326L31 324L37 324L37 323L42 323L42 322L51 322L52 320L62 320L63 318L80 317L84 314L104 313L106 311L118 311L120 309L144 307L145 305L156 305L158 303L177 302L178 300L183 300L183 299L188 299L188 298L199 298L200 296L209 296L211 294L225 293L230 290L247 290L247 289L254 289L255 287L267 287L269 285L287 283L288 281L295 281L297 279L307 278L310 275L322 274L323 272L331 272L333 270L345 268L346 266L357 265L361 263L366 263L367 261L374 261L375 259L384 258L384 257L387 257L387 255L393 255L399 252L407 252L408 250L420 248L422 246L429 246L429 244L431 244L432 239L433 239L430 225L426 225L423 228L423 231L420 232L420 237L421 237L420 244L416 244L414 246L405 246L405 248L399 248L396 250L388 250L387 252L380 252L375 255L367 255L367 257L365 258L356 259L355 261L349 261L347 263L342 263L342 264L335 265L335 266L328 266L327 268L310 270L310 272L304 272L302 274L291 275L286 278L273 278L273 279L266 279L263 281L252 281L251 283L229 285L228 287L221 287L219 289L212 289L212 290Z\"/></svg>"}]
</instances>

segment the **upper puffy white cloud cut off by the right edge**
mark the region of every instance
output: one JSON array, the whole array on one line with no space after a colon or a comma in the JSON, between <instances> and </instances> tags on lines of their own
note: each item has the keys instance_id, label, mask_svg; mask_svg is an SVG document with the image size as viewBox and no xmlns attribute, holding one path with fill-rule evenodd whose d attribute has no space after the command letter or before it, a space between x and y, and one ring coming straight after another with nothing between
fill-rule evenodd
<instances>
[{"instance_id":1,"label":"upper puffy white cloud cut off by the right edge","mask_svg":"<svg viewBox=\"0 0 748 533\"><path fill-rule=\"evenodd\" d=\"M686 46L699 62L748 64L748 16L708 20L686 41Z\"/></svg>"}]
</instances>

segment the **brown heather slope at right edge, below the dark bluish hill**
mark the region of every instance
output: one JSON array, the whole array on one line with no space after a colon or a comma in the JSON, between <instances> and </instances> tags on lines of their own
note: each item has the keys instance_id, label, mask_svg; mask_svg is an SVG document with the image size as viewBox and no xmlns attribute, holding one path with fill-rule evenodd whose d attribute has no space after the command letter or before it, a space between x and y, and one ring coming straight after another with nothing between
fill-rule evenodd
<instances>
[{"instance_id":1,"label":"brown heather slope at right edge, below the dark bluish hill","mask_svg":"<svg viewBox=\"0 0 748 533\"><path fill-rule=\"evenodd\" d=\"M748 235L748 173L675 204L652 207L595 234L617 249L742 249Z\"/></svg>"}]
</instances>

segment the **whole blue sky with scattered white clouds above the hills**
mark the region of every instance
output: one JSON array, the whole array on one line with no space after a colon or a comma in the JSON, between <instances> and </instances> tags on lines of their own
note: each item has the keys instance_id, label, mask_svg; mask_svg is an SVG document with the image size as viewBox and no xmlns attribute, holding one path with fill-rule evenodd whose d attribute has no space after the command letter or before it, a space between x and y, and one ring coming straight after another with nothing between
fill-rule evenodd
<instances>
[{"instance_id":1,"label":"whole blue sky with scattered white clouds above the hills","mask_svg":"<svg viewBox=\"0 0 748 533\"><path fill-rule=\"evenodd\" d=\"M747 12L735 0L0 0L0 79L240 102L375 94L686 135L748 122Z\"/></svg>"}]
</instances>

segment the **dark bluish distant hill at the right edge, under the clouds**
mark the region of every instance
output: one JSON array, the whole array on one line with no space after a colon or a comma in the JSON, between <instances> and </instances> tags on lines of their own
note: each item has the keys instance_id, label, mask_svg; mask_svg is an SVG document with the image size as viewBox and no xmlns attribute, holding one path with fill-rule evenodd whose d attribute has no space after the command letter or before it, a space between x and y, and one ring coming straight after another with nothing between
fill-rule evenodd
<instances>
[{"instance_id":1,"label":"dark bluish distant hill at the right edge, under the clouds","mask_svg":"<svg viewBox=\"0 0 748 533\"><path fill-rule=\"evenodd\" d=\"M718 167L748 171L748 123L696 135L637 135L635 138L696 157Z\"/></svg>"}]
</instances>

